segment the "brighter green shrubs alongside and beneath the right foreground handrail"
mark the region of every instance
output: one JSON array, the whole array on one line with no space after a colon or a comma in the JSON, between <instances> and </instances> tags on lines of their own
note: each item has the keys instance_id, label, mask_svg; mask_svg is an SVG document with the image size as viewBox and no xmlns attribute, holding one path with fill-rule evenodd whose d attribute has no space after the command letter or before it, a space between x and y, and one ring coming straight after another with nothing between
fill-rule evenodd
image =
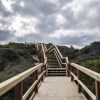
<instances>
[{"instance_id":1,"label":"brighter green shrubs alongside and beneath the right foreground handrail","mask_svg":"<svg viewBox=\"0 0 100 100\"><path fill-rule=\"evenodd\" d=\"M87 60L80 63L82 66L93 70L95 72L100 73L100 59L95 60ZM95 80L91 77L83 74L82 75L84 84L93 92L95 93Z\"/></svg>"}]
</instances>

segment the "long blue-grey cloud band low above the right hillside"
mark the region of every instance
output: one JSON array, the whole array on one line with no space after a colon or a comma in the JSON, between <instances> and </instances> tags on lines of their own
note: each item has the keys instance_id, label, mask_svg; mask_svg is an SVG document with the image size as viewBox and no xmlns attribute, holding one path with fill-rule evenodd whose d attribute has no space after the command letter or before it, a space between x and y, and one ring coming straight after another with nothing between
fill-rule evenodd
<instances>
[{"instance_id":1,"label":"long blue-grey cloud band low above the right hillside","mask_svg":"<svg viewBox=\"0 0 100 100\"><path fill-rule=\"evenodd\" d=\"M65 36L57 39L56 43L61 44L61 45L77 45L83 47L84 45L89 44L90 42L93 42L95 40L100 40L100 35L97 34L86 34L86 33L80 33L80 35L75 35L73 36Z\"/></svg>"}]
</instances>

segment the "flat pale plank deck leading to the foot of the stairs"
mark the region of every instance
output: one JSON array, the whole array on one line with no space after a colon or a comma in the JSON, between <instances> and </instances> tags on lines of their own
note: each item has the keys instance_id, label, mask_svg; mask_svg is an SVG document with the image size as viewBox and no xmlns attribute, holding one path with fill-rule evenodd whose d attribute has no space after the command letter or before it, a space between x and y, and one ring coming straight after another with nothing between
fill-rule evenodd
<instances>
[{"instance_id":1,"label":"flat pale plank deck leading to the foot of the stairs","mask_svg":"<svg viewBox=\"0 0 100 100\"><path fill-rule=\"evenodd\" d=\"M46 77L33 100L84 100L69 77Z\"/></svg>"}]
</instances>

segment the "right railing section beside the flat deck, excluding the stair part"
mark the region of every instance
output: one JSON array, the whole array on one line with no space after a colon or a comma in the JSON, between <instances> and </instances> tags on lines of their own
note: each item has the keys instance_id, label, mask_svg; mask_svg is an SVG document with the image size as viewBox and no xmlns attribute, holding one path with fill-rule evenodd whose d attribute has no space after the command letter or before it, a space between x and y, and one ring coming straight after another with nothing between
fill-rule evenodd
<instances>
[{"instance_id":1,"label":"right railing section beside the flat deck, excluding the stair part","mask_svg":"<svg viewBox=\"0 0 100 100\"><path fill-rule=\"evenodd\" d=\"M88 95L93 99L93 100L100 100L100 74L92 71L90 69L87 69L83 66L80 66L75 63L70 63L68 64L68 70L70 72L71 80L73 81L74 79L78 82L78 92L82 92L82 88L88 93ZM77 69L77 76L73 73L72 68ZM89 77L93 78L95 80L95 93L94 95L82 82L81 78L79 78L81 75L80 73L85 73Z\"/></svg>"}]
</instances>

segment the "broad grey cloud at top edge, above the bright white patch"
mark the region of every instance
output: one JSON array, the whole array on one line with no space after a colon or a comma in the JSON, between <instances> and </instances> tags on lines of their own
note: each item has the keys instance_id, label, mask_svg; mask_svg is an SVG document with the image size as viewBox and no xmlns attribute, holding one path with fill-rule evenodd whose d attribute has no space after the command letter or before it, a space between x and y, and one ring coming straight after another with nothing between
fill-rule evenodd
<instances>
[{"instance_id":1,"label":"broad grey cloud at top edge, above the bright white patch","mask_svg":"<svg viewBox=\"0 0 100 100\"><path fill-rule=\"evenodd\" d=\"M49 15L56 13L58 8L44 0L23 0L24 6L20 6L20 1L16 1L12 8L15 13L26 15L26 16L36 16Z\"/></svg>"}]
</instances>

